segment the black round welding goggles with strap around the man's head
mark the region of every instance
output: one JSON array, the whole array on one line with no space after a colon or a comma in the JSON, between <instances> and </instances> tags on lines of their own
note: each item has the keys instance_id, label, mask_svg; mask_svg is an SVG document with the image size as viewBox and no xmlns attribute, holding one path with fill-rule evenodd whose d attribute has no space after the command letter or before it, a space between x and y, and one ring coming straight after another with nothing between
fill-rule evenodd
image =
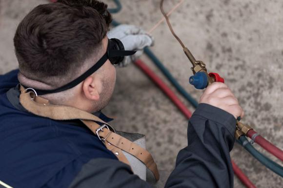
<instances>
[{"instance_id":1,"label":"black round welding goggles with strap around the man's head","mask_svg":"<svg viewBox=\"0 0 283 188\"><path fill-rule=\"evenodd\" d=\"M57 89L52 89L52 90L36 89L36 92L37 92L38 95L45 95L45 94L50 94L50 93L58 93L58 92L65 91L67 89L73 88L76 85L80 84L88 76L93 74L95 71L97 71L99 68L101 68L101 66L107 61L107 59L109 59L109 61L113 65L115 65L115 64L121 63L125 56L133 55L135 52L136 51L125 51L124 45L117 38L108 39L108 46L107 46L106 53L101 57L100 60L98 60L98 62L94 66L89 68L80 77L76 78L72 82L70 82L66 85L63 85L63 86L61 86Z\"/></svg>"}]
</instances>

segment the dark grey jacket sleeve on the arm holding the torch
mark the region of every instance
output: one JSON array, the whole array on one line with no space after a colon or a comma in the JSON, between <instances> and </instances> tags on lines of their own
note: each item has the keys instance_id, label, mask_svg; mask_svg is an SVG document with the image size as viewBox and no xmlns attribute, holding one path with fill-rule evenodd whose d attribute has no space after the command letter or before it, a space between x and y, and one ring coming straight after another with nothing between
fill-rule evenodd
<instances>
[{"instance_id":1,"label":"dark grey jacket sleeve on the arm holding the torch","mask_svg":"<svg viewBox=\"0 0 283 188\"><path fill-rule=\"evenodd\" d=\"M199 104L189 120L188 146L176 160L166 188L232 188L229 152L234 146L236 119L209 104Z\"/></svg>"}]
</instances>

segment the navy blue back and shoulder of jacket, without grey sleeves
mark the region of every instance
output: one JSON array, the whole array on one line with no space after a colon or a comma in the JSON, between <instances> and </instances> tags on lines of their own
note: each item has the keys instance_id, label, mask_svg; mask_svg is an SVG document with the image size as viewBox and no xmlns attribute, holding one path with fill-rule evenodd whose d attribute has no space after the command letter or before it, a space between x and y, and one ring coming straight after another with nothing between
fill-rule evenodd
<instances>
[{"instance_id":1,"label":"navy blue back and shoulder of jacket, without grey sleeves","mask_svg":"<svg viewBox=\"0 0 283 188\"><path fill-rule=\"evenodd\" d=\"M13 106L7 92L19 84L17 73L0 76L0 181L15 188L66 188L91 159L117 159L86 127Z\"/></svg>"}]
</instances>

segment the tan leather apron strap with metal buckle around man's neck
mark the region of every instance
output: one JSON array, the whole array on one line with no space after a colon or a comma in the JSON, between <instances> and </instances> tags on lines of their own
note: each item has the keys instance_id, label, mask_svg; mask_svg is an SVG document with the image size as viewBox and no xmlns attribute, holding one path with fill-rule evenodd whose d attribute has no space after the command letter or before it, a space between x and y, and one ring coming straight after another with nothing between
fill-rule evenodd
<instances>
[{"instance_id":1,"label":"tan leather apron strap with metal buckle around man's neck","mask_svg":"<svg viewBox=\"0 0 283 188\"><path fill-rule=\"evenodd\" d=\"M20 91L20 103L29 112L53 120L81 120L121 162L130 165L122 151L132 154L153 172L156 180L159 180L159 171L152 155L139 145L116 134L108 123L74 107L50 104L48 100L35 96L33 92L26 92L22 86L20 86ZM103 123L105 126L100 126L97 122Z\"/></svg>"}]
</instances>

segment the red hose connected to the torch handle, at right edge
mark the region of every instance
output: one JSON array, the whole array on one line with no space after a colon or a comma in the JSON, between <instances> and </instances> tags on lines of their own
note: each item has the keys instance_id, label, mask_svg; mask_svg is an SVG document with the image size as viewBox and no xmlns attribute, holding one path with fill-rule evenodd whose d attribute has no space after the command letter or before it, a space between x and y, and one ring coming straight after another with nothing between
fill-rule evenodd
<instances>
[{"instance_id":1,"label":"red hose connected to the torch handle, at right edge","mask_svg":"<svg viewBox=\"0 0 283 188\"><path fill-rule=\"evenodd\" d=\"M266 140L264 137L260 135L255 135L258 134L255 132L253 129L249 130L247 132L247 136L254 140L257 144L259 144L261 147L263 147L267 152L270 154L273 154L277 158L279 158L281 161L283 161L283 151L279 148L277 148L275 145L270 143L268 140ZM254 137L253 137L254 136ZM256 136L256 137L255 137Z\"/></svg>"}]
</instances>

